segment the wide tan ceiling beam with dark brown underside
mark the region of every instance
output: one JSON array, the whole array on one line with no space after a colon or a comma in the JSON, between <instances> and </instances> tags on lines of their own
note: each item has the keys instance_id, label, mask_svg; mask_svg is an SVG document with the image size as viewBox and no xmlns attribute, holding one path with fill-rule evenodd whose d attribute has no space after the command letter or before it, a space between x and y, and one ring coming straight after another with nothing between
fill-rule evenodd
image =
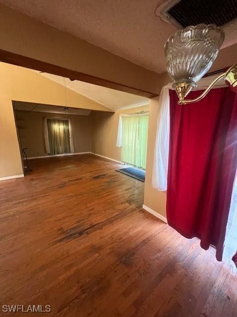
<instances>
[{"instance_id":1,"label":"wide tan ceiling beam with dark brown underside","mask_svg":"<svg viewBox=\"0 0 237 317\"><path fill-rule=\"evenodd\" d=\"M142 66L0 4L0 61L155 97L160 76Z\"/></svg>"}]
</instances>

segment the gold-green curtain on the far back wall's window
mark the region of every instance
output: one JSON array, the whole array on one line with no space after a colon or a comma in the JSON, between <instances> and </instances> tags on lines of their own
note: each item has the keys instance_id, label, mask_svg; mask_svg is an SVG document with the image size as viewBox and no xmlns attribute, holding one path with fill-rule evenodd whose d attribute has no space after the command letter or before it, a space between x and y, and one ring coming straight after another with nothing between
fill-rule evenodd
<instances>
[{"instance_id":1,"label":"gold-green curtain on the far back wall's window","mask_svg":"<svg viewBox=\"0 0 237 317\"><path fill-rule=\"evenodd\" d=\"M47 119L50 155L70 153L69 120Z\"/></svg>"}]
</instances>

